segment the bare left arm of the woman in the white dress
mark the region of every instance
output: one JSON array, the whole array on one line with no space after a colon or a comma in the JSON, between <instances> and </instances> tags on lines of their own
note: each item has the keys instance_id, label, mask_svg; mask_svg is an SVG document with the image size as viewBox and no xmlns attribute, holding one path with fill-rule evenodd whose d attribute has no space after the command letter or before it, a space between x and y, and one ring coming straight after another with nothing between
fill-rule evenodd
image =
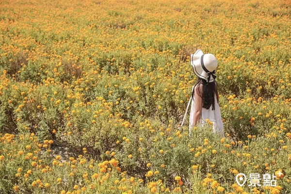
<instances>
[{"instance_id":1,"label":"bare left arm of the woman in the white dress","mask_svg":"<svg viewBox=\"0 0 291 194\"><path fill-rule=\"evenodd\" d=\"M202 114L202 85L196 85L195 91L195 109L193 114L193 125L197 125Z\"/></svg>"}]
</instances>

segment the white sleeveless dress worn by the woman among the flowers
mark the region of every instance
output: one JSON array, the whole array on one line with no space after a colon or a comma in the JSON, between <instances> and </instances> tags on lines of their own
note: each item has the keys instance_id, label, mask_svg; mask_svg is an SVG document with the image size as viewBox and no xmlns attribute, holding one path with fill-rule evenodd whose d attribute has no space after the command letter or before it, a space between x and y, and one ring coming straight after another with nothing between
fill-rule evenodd
<instances>
[{"instance_id":1,"label":"white sleeveless dress worn by the woman among the flowers","mask_svg":"<svg viewBox=\"0 0 291 194\"><path fill-rule=\"evenodd\" d=\"M193 100L191 102L191 110L190 110L190 118L189 118L189 134L191 133L191 129L193 126L193 115L195 110L195 98L193 97ZM199 120L199 125L204 126L206 123L206 119L209 119L213 123L212 130L213 132L217 132L221 135L221 137L224 137L223 132L223 122L222 117L220 113L220 107L217 102L217 98L215 97L215 109L212 110L212 105L209 109L202 108L202 114Z\"/></svg>"}]
</instances>

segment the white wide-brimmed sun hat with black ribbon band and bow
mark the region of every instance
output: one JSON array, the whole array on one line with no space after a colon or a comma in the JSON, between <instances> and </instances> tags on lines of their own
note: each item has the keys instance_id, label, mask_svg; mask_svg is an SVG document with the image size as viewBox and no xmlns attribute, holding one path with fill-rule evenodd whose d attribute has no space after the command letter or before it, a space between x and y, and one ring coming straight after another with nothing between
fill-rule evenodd
<instances>
[{"instance_id":1,"label":"white wide-brimmed sun hat with black ribbon band and bow","mask_svg":"<svg viewBox=\"0 0 291 194\"><path fill-rule=\"evenodd\" d=\"M191 54L191 65L196 76L208 82L215 80L215 69L217 67L217 59L213 54L204 54L200 49Z\"/></svg>"}]
</instances>

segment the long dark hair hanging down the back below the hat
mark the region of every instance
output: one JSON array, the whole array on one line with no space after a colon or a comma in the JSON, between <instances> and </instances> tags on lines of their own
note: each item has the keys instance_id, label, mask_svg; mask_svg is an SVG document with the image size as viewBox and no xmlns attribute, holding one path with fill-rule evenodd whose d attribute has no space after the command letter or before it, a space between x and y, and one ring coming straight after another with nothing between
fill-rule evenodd
<instances>
[{"instance_id":1,"label":"long dark hair hanging down the back below the hat","mask_svg":"<svg viewBox=\"0 0 291 194\"><path fill-rule=\"evenodd\" d=\"M207 84L207 81L201 78L198 78L195 86L202 84L202 91L198 91L198 95L202 98L202 107L206 109L210 109L212 105L212 110L215 110L215 97L218 102L218 92L217 92L217 84L216 81L209 82ZM194 97L194 90L192 97Z\"/></svg>"}]
</instances>

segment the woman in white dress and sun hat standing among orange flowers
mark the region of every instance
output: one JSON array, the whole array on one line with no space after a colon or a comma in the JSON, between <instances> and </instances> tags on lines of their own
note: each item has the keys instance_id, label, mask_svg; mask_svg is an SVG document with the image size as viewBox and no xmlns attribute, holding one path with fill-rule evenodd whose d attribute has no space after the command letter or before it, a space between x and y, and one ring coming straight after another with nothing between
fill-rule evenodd
<instances>
[{"instance_id":1,"label":"woman in white dress and sun hat standing among orange flowers","mask_svg":"<svg viewBox=\"0 0 291 194\"><path fill-rule=\"evenodd\" d=\"M192 89L189 132L194 126L203 126L209 120L213 132L224 136L214 75L217 60L214 55L197 50L195 54L191 54L191 65L198 80Z\"/></svg>"}]
</instances>

